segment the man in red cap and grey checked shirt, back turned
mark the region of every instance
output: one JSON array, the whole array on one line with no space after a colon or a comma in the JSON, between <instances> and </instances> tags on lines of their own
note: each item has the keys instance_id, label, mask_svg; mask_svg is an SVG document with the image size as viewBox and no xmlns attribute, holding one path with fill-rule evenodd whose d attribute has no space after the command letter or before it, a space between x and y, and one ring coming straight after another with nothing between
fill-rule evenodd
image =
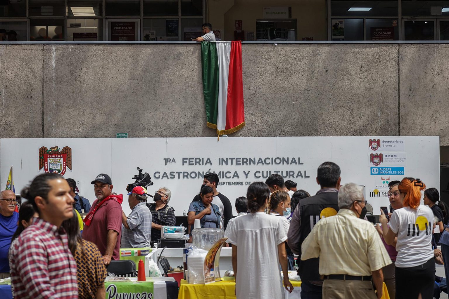
<instances>
[{"instance_id":1,"label":"man in red cap and grey checked shirt, back turned","mask_svg":"<svg viewBox=\"0 0 449 299\"><path fill-rule=\"evenodd\" d=\"M122 212L122 223L125 227L122 234L122 248L150 247L152 217L146 207L146 189L136 186L128 193L131 213L126 217Z\"/></svg>"}]
</instances>

